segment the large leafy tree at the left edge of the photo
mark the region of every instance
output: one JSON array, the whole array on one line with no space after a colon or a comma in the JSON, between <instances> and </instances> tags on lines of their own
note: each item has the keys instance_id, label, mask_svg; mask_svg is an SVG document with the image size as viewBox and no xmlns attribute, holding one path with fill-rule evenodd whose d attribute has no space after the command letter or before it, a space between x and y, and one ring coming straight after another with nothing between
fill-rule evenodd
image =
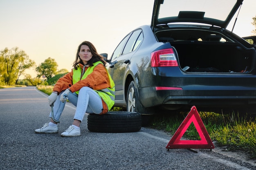
<instances>
[{"instance_id":1,"label":"large leafy tree at the left edge of the photo","mask_svg":"<svg viewBox=\"0 0 256 170\"><path fill-rule=\"evenodd\" d=\"M2 50L0 64L0 80L6 85L16 84L25 70L35 66L35 62L30 60L25 51L19 50L18 47Z\"/></svg>"}]
</instances>

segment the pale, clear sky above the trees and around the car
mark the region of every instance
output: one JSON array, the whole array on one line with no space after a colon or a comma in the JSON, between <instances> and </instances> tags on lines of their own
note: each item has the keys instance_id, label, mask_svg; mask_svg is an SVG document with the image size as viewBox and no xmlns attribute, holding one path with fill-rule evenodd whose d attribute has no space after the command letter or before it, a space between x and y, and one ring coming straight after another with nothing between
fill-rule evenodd
<instances>
[{"instance_id":1,"label":"pale, clear sky above the trees and around the car","mask_svg":"<svg viewBox=\"0 0 256 170\"><path fill-rule=\"evenodd\" d=\"M0 0L0 51L17 46L37 66L51 57L58 70L71 71L81 42L92 42L98 53L110 57L130 31L151 23L153 4L154 0ZM240 37L256 29L255 7L256 0L244 0L233 31ZM227 29L231 31L233 24L234 19ZM34 69L26 73L36 77Z\"/></svg>"}]
</instances>

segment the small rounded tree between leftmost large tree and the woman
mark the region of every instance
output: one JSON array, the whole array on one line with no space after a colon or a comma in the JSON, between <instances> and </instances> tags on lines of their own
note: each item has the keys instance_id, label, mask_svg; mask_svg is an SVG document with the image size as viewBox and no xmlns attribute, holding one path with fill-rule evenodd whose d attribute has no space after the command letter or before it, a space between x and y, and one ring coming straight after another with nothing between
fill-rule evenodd
<instances>
[{"instance_id":1,"label":"small rounded tree between leftmost large tree and the woman","mask_svg":"<svg viewBox=\"0 0 256 170\"><path fill-rule=\"evenodd\" d=\"M38 67L36 67L37 77L45 76L47 79L52 78L57 72L58 64L51 57L47 58Z\"/></svg>"}]
</instances>

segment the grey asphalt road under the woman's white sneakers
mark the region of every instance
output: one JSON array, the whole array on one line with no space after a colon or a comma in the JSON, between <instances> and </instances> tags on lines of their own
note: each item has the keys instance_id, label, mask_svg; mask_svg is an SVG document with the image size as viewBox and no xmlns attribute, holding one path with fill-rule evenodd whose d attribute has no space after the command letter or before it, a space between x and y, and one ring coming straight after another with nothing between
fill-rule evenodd
<instances>
[{"instance_id":1,"label":"grey asphalt road under the woman's white sneakers","mask_svg":"<svg viewBox=\"0 0 256 170\"><path fill-rule=\"evenodd\" d=\"M35 87L0 89L0 170L256 170L256 165L214 149L167 150L169 134L150 128L132 133L96 133L61 137L73 121L67 103L58 134L36 134L49 122L47 95Z\"/></svg>"}]
</instances>

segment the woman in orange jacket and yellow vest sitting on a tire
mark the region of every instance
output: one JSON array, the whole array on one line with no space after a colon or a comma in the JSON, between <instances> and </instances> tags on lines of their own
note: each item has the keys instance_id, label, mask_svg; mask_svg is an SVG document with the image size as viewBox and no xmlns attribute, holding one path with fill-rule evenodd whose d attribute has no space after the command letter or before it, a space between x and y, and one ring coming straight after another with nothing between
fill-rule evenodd
<instances>
[{"instance_id":1,"label":"woman in orange jacket and yellow vest sitting on a tire","mask_svg":"<svg viewBox=\"0 0 256 170\"><path fill-rule=\"evenodd\" d=\"M49 123L44 124L36 133L57 133L57 123L63 112L66 99L74 106L76 112L73 124L61 133L63 137L80 136L80 124L86 113L107 113L115 103L115 84L110 77L106 62L97 53L94 45L88 41L82 42L76 53L73 69L54 85L53 92L48 97L49 105L53 107Z\"/></svg>"}]
</instances>

